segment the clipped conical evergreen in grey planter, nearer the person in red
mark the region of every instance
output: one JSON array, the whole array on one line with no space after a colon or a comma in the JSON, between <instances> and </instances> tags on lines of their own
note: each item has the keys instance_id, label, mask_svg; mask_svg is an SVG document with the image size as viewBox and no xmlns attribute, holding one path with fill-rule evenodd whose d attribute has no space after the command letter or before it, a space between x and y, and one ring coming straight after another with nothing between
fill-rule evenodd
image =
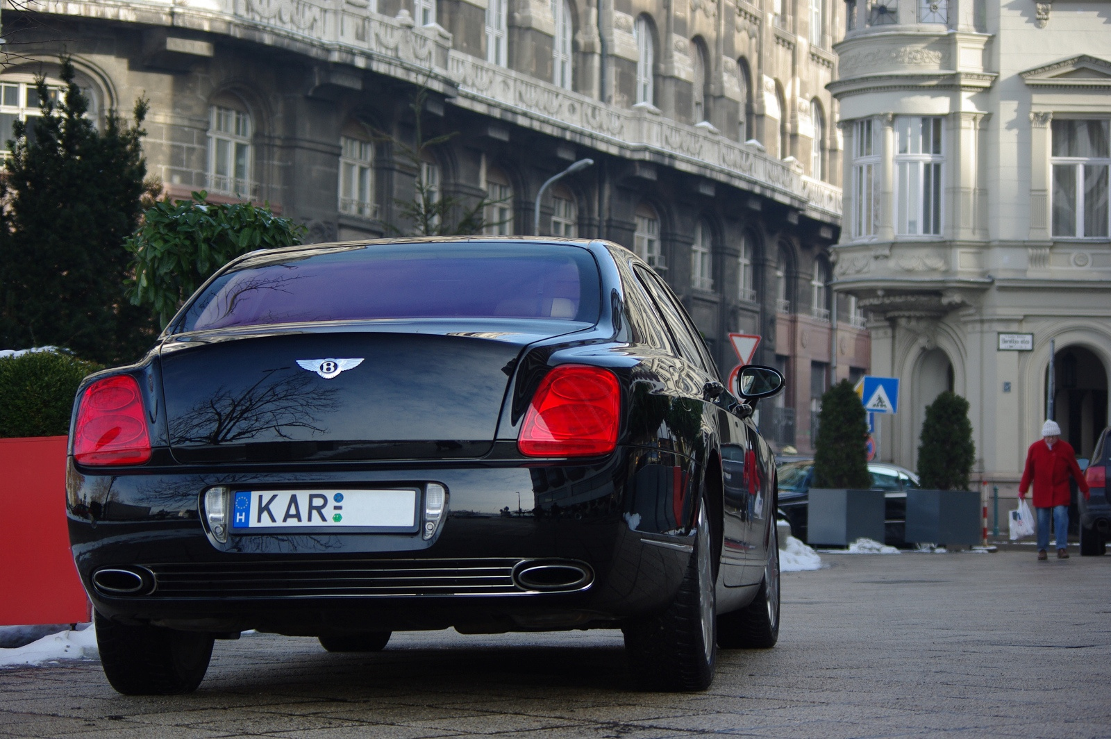
<instances>
[{"instance_id":1,"label":"clipped conical evergreen in grey planter, nearer the person in red","mask_svg":"<svg viewBox=\"0 0 1111 739\"><path fill-rule=\"evenodd\" d=\"M968 490L975 442L969 421L969 401L955 392L942 392L925 407L918 477L930 490Z\"/></svg>"}]
</instances>

